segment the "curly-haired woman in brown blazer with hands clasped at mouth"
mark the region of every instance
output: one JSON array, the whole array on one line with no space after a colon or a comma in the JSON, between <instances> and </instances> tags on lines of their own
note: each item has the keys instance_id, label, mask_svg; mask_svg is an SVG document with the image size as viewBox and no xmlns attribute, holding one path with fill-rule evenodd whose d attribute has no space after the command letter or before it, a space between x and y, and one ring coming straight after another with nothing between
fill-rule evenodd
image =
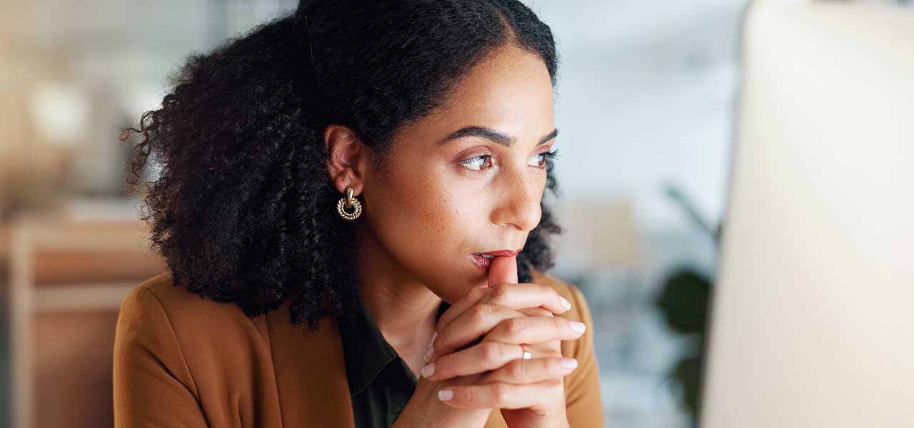
<instances>
[{"instance_id":1,"label":"curly-haired woman in brown blazer with hands clasped at mouth","mask_svg":"<svg viewBox=\"0 0 914 428\"><path fill-rule=\"evenodd\" d=\"M170 272L122 303L116 425L602 426L544 273L556 68L515 0L307 2L191 57L132 129Z\"/></svg>"}]
</instances>

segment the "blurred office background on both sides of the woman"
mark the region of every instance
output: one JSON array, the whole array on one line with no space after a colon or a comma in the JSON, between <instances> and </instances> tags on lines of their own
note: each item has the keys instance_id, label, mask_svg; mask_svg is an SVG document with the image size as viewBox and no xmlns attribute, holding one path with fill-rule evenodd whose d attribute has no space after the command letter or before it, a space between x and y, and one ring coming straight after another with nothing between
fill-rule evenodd
<instances>
[{"instance_id":1,"label":"blurred office background on both sides of the woman","mask_svg":"<svg viewBox=\"0 0 914 428\"><path fill-rule=\"evenodd\" d=\"M606 424L693 426L749 2L526 3L558 39L567 231L553 274L588 298ZM14 409L23 427L112 425L117 308L165 269L124 194L118 131L188 54L296 4L2 6L0 426Z\"/></svg>"}]
</instances>

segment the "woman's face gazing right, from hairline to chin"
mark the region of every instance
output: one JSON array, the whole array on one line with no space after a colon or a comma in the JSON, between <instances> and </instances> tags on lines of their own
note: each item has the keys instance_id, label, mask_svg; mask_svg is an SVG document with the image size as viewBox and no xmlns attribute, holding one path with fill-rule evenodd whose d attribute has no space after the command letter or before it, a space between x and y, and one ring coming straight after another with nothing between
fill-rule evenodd
<instances>
[{"instance_id":1,"label":"woman's face gazing right, from hairline to chin","mask_svg":"<svg viewBox=\"0 0 914 428\"><path fill-rule=\"evenodd\" d=\"M552 99L546 65L519 48L473 68L441 112L397 133L382 171L365 172L363 249L450 302L484 285L474 255L519 250L539 224Z\"/></svg>"}]
</instances>

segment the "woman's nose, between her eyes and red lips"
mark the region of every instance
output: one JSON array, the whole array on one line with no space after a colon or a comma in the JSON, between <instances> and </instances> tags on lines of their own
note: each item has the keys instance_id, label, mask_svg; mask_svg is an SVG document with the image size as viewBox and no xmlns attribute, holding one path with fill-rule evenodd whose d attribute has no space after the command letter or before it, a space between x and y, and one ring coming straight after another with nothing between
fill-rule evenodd
<instances>
[{"instance_id":1,"label":"woman's nose, between her eyes and red lips","mask_svg":"<svg viewBox=\"0 0 914 428\"><path fill-rule=\"evenodd\" d=\"M533 230L542 215L539 203L546 187L545 178L537 173L519 172L503 174L501 182L492 223L523 232Z\"/></svg>"}]
</instances>

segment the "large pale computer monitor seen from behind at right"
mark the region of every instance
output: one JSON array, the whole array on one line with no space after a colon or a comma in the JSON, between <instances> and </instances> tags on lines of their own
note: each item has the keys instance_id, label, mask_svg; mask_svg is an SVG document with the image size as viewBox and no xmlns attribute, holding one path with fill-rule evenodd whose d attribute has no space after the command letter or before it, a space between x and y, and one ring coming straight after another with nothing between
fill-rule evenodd
<instances>
[{"instance_id":1,"label":"large pale computer monitor seen from behind at right","mask_svg":"<svg viewBox=\"0 0 914 428\"><path fill-rule=\"evenodd\" d=\"M757 2L703 428L914 427L914 7Z\"/></svg>"}]
</instances>

